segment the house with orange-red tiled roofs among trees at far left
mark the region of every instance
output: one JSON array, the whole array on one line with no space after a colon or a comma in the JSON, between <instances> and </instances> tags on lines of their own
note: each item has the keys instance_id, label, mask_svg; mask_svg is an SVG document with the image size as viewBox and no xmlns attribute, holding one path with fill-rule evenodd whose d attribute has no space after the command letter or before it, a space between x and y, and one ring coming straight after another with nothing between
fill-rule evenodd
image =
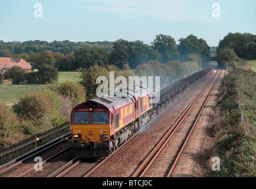
<instances>
[{"instance_id":1,"label":"house with orange-red tiled roofs among trees at far left","mask_svg":"<svg viewBox=\"0 0 256 189\"><path fill-rule=\"evenodd\" d=\"M5 73L5 71L11 69L11 67L20 66L25 72L30 73L32 66L30 63L25 61L23 58L8 58L0 57L0 72Z\"/></svg>"}]
</instances>

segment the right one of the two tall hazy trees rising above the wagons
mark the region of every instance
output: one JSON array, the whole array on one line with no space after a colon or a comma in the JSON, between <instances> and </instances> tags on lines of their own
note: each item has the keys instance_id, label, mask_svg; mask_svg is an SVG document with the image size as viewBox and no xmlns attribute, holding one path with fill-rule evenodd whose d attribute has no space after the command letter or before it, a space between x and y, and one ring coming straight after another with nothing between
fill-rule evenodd
<instances>
[{"instance_id":1,"label":"right one of the two tall hazy trees rising above the wagons","mask_svg":"<svg viewBox=\"0 0 256 189\"><path fill-rule=\"evenodd\" d=\"M210 47L202 38L198 39L195 35L188 35L186 38L181 38L178 50L181 57L187 54L199 54L201 57L208 57L210 54Z\"/></svg>"}]
</instances>

